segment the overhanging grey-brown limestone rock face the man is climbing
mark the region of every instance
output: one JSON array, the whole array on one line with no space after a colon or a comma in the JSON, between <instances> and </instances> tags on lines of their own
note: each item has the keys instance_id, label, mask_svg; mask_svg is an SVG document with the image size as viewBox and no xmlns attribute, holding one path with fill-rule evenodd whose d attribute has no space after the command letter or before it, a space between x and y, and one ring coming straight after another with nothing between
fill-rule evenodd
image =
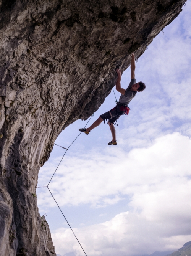
<instances>
[{"instance_id":1,"label":"overhanging grey-brown limestone rock face the man is climbing","mask_svg":"<svg viewBox=\"0 0 191 256\"><path fill-rule=\"evenodd\" d=\"M55 255L35 197L40 166L184 2L0 0L1 256Z\"/></svg>"}]
</instances>

